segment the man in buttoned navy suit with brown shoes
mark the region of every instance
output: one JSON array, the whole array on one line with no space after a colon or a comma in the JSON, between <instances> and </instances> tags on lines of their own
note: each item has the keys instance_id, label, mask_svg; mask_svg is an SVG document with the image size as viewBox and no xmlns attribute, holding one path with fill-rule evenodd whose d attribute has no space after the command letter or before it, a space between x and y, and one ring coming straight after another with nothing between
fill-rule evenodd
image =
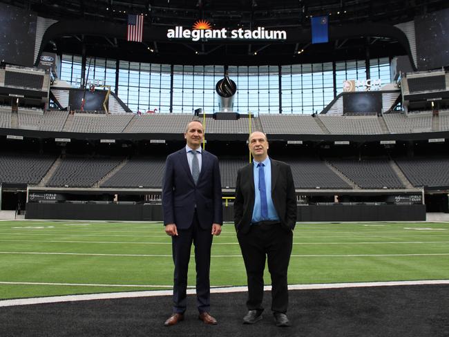
<instances>
[{"instance_id":1,"label":"man in buttoned navy suit with brown shoes","mask_svg":"<svg viewBox=\"0 0 449 337\"><path fill-rule=\"evenodd\" d=\"M218 158L202 150L204 129L200 121L187 124L187 145L166 158L162 185L162 209L165 232L171 235L173 262L173 314L164 323L175 325L184 320L187 271L192 242L195 245L196 296L198 318L215 325L209 314L211 245L213 235L220 235L222 191Z\"/></svg>"}]
</instances>

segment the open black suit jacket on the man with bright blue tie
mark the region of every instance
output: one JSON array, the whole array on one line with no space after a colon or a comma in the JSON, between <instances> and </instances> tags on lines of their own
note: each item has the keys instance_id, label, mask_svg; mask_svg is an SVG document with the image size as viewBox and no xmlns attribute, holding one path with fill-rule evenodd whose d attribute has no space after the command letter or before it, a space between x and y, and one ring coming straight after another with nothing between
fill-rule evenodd
<instances>
[{"instance_id":1,"label":"open black suit jacket on the man with bright blue tie","mask_svg":"<svg viewBox=\"0 0 449 337\"><path fill-rule=\"evenodd\" d=\"M285 162L271 161L271 199L278 212L280 223L287 231L296 224L296 195L292 169ZM254 164L238 170L236 200L234 200L234 224L236 231L247 233L254 210Z\"/></svg>"}]
</instances>

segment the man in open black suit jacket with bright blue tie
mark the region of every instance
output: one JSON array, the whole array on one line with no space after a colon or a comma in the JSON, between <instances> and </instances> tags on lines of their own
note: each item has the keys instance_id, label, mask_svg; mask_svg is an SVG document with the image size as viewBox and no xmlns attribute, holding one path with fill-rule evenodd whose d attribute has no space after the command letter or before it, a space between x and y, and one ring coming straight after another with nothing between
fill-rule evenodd
<instances>
[{"instance_id":1,"label":"man in open black suit jacket with bright blue tie","mask_svg":"<svg viewBox=\"0 0 449 337\"><path fill-rule=\"evenodd\" d=\"M262 319L265 259L271 274L271 311L278 327L287 318L287 270L296 224L296 196L292 170L268 156L265 133L249 136L254 162L240 168L236 182L234 224L248 278L245 324Z\"/></svg>"}]
</instances>

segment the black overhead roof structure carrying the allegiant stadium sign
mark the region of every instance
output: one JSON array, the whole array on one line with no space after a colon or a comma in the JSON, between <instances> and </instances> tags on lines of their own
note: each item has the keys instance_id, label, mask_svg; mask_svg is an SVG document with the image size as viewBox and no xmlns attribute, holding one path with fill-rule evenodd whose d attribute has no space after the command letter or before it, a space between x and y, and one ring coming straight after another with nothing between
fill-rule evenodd
<instances>
[{"instance_id":1,"label":"black overhead roof structure carrying the allegiant stadium sign","mask_svg":"<svg viewBox=\"0 0 449 337\"><path fill-rule=\"evenodd\" d=\"M394 25L449 8L448 1L438 0L0 2L59 21L47 30L41 51L75 55L85 52L96 57L160 64L223 65L300 64L407 55L408 40ZM142 43L126 41L130 14L144 17ZM329 42L312 44L311 17L322 15L327 15ZM190 34L195 23L202 24L203 29L217 30L217 34L226 32L227 36L193 41ZM265 32L285 32L285 39L259 39L257 35L264 34L261 28ZM184 30L190 31L185 33L188 38ZM233 30L235 39L231 38ZM245 32L247 37L243 37Z\"/></svg>"}]
</instances>

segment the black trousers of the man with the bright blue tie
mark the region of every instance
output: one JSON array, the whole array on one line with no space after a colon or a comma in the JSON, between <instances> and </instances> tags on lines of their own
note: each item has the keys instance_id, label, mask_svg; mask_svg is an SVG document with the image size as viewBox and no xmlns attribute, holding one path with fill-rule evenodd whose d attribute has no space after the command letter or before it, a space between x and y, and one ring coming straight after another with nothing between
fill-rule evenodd
<instances>
[{"instance_id":1,"label":"black trousers of the man with the bright blue tie","mask_svg":"<svg viewBox=\"0 0 449 337\"><path fill-rule=\"evenodd\" d=\"M262 311L263 273L267 258L271 275L271 310L286 313L287 271L292 254L293 232L276 224L253 224L248 233L237 233L248 278L248 310Z\"/></svg>"}]
</instances>

